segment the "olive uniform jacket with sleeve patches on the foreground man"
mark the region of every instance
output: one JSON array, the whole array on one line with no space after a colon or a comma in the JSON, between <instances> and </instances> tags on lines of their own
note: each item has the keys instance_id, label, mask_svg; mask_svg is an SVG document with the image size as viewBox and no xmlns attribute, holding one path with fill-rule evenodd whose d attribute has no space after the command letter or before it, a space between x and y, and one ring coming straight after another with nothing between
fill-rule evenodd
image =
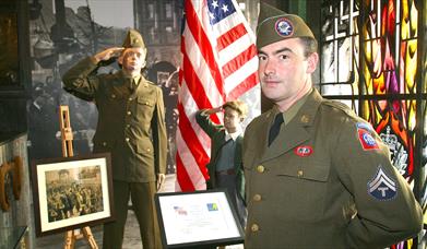
<instances>
[{"instance_id":1,"label":"olive uniform jacket with sleeve patches on the foreground man","mask_svg":"<svg viewBox=\"0 0 427 249\"><path fill-rule=\"evenodd\" d=\"M276 107L247 127L245 248L384 248L422 210L371 126L313 90L268 147Z\"/></svg>"}]
</instances>

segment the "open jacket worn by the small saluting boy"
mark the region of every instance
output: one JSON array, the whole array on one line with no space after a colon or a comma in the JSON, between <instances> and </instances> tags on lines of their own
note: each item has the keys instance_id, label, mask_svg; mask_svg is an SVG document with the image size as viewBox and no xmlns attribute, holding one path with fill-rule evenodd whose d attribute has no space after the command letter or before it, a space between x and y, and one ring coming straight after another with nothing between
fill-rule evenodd
<instances>
[{"instance_id":1,"label":"open jacket worn by the small saluting boy","mask_svg":"<svg viewBox=\"0 0 427 249\"><path fill-rule=\"evenodd\" d=\"M215 124L211 121L209 115L204 110L199 110L195 114L195 120L199 126L203 129L204 132L211 138L211 161L206 165L210 179L206 182L207 189L216 188L216 165L220 158L220 152L225 141L225 128L222 124ZM242 146L244 137L239 135L236 139L236 151L234 158L234 166L236 171L236 190L245 200L245 175L241 161L241 146Z\"/></svg>"}]
</instances>

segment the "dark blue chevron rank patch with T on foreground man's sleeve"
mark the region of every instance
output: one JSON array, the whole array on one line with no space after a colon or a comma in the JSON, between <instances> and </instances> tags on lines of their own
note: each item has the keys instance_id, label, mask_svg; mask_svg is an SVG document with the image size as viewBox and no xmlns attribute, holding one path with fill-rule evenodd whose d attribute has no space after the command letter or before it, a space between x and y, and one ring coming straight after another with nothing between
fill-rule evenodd
<instances>
[{"instance_id":1,"label":"dark blue chevron rank patch with T on foreground man's sleeve","mask_svg":"<svg viewBox=\"0 0 427 249\"><path fill-rule=\"evenodd\" d=\"M377 174L368 182L368 193L380 201L391 200L398 193L395 181L382 170L381 166L378 167Z\"/></svg>"}]
</instances>

